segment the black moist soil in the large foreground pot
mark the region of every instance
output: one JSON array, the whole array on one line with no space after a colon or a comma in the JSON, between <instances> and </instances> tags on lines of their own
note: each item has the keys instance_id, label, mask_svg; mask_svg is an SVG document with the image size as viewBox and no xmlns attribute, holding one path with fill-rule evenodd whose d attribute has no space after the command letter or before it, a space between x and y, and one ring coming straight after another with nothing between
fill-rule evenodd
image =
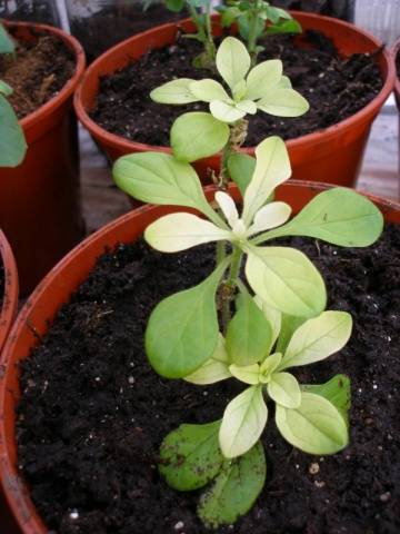
<instances>
[{"instance_id":1,"label":"black moist soil in the large foreground pot","mask_svg":"<svg viewBox=\"0 0 400 534\"><path fill-rule=\"evenodd\" d=\"M350 376L350 445L333 456L301 453L280 437L271 406L267 484L246 517L218 532L398 534L399 227L367 249L289 243L321 270L329 309L353 316L346 348L296 372L304 384ZM174 492L158 475L158 449L181 423L220 418L242 385L160 378L147 363L143 332L161 298L204 278L212 250L161 255L139 241L106 254L23 362L19 467L51 532L206 532L199 495Z\"/></svg>"}]
</instances>

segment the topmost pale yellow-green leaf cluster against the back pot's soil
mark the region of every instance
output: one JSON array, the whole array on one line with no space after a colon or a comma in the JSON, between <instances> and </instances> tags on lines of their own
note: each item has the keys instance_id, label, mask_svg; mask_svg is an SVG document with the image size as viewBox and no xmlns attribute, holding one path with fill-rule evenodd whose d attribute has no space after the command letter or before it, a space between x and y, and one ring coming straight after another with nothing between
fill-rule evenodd
<instances>
[{"instance_id":1,"label":"topmost pale yellow-green leaf cluster against the back pot's soil","mask_svg":"<svg viewBox=\"0 0 400 534\"><path fill-rule=\"evenodd\" d=\"M223 150L222 171L226 174L229 157L246 139L247 115L262 111L278 117L298 117L308 111L309 105L291 88L280 60L263 61L250 68L249 52L234 37L222 41L216 65L227 89L211 78L180 78L153 89L150 97L160 103L201 101L209 105L210 112L187 112L173 122L171 148L177 159L188 162Z\"/></svg>"}]
</instances>

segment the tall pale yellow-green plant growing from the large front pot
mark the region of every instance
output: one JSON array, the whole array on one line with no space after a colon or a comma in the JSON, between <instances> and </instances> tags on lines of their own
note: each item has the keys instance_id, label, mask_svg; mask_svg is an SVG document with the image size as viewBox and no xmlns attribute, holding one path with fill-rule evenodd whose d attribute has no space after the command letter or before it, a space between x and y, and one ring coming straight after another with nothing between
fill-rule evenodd
<instances>
[{"instance_id":1,"label":"tall pale yellow-green plant growing from the large front pot","mask_svg":"<svg viewBox=\"0 0 400 534\"><path fill-rule=\"evenodd\" d=\"M351 316L326 310L324 281L313 264L300 250L271 245L271 239L308 236L344 247L366 247L380 236L383 226L373 204L351 189L334 188L318 195L292 219L291 207L274 201L274 189L291 174L284 142L278 137L264 139L253 159L243 160L232 149L232 134L243 120L234 115L243 111L238 102L244 99L261 108L257 98L249 97L250 62L244 68L243 56L230 53L231 46L237 46L231 38L222 42L217 66L230 89L241 88L241 99L233 90L232 101L224 102L233 119L216 118L212 102L219 99L211 99L211 115L204 115L211 117L213 127L211 122L207 129L199 127L182 116L186 136L178 136L181 142L176 142L180 117L171 130L172 156L124 156L113 168L117 184L133 197L200 214L174 212L152 222L144 233L151 247L171 254L217 243L211 275L159 303L146 332L150 364L161 376L199 387L224 379L241 385L220 419L182 424L160 447L159 471L170 486L181 492L203 488L198 515L212 528L232 524L246 514L268 483L260 436L268 432L269 418L274 417L283 438L304 453L334 454L349 441L349 378L336 375L327 377L324 384L300 384L297 368L340 350L351 335ZM271 73L267 67L260 71L264 68L268 81ZM273 86L278 95L288 90L281 77L276 77ZM262 89L264 81L260 77L257 87ZM209 101L207 80L194 86L177 80L173 87L180 88L180 95ZM224 90L222 86L212 88L219 93ZM166 95L166 86L156 91L160 93ZM177 98L177 92L173 95ZM277 98L277 107L288 109L291 97L298 99L287 95L287 106L284 99ZM272 98L269 106L273 108ZM220 135L221 125L227 127L224 136ZM246 136L246 128L241 135ZM211 146L216 151L222 149L228 160L227 168L221 168L212 206L189 164L203 157L204 144L208 151ZM231 158L234 165L229 165ZM229 167L234 171L230 174ZM227 192L229 178L239 176L241 209Z\"/></svg>"}]
</instances>

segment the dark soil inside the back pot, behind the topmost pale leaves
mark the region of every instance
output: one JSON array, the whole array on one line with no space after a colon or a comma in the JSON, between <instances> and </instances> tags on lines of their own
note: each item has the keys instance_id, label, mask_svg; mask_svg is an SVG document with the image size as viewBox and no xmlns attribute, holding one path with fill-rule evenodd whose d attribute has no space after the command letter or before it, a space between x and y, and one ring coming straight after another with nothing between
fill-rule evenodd
<instances>
[{"instance_id":1,"label":"dark soil inside the back pot, behind the topmost pale leaves","mask_svg":"<svg viewBox=\"0 0 400 534\"><path fill-rule=\"evenodd\" d=\"M380 91L382 79L370 55L338 56L332 42L309 31L309 48L288 36L268 38L260 61L279 58L294 89L310 102L302 117L281 118L258 112L250 116L248 146L270 135L292 139L332 126L359 111ZM312 48L310 48L312 46ZM92 119L106 130L149 145L169 145L173 120L184 111L207 109L206 105L166 106L152 102L151 89L173 78L209 78L209 70L191 67L201 51L198 42L181 38L169 48L152 50L139 61L100 81ZM248 116L249 118L249 116Z\"/></svg>"}]
</instances>

